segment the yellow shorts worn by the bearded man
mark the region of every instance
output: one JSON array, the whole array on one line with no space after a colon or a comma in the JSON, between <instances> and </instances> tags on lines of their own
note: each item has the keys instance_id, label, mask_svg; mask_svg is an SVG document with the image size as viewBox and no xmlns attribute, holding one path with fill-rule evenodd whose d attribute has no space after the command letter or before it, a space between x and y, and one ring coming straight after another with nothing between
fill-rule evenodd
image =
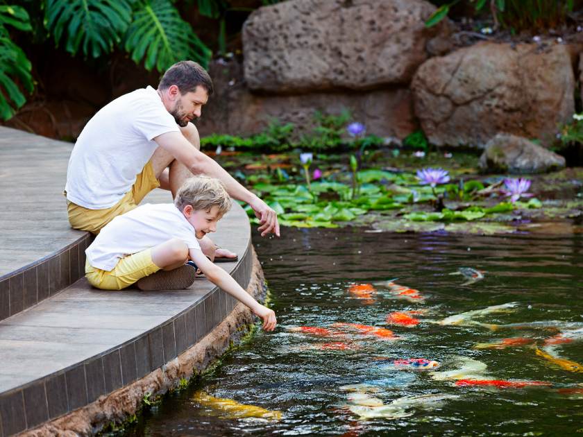
<instances>
[{"instance_id":1,"label":"yellow shorts worn by the bearded man","mask_svg":"<svg viewBox=\"0 0 583 437\"><path fill-rule=\"evenodd\" d=\"M131 211L142 201L146 194L160 187L160 181L156 179L151 162L148 162L142 173L136 176L131 191L119 200L118 203L105 209L87 209L67 200L67 213L71 227L78 230L99 234L103 226L107 225L115 217Z\"/></svg>"}]
</instances>

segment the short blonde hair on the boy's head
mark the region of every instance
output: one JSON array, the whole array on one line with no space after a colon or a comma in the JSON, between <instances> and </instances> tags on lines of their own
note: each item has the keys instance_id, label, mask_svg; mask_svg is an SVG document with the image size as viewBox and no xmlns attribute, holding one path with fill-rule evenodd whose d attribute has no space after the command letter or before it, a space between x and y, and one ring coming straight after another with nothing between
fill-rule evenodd
<instances>
[{"instance_id":1,"label":"short blonde hair on the boy's head","mask_svg":"<svg viewBox=\"0 0 583 437\"><path fill-rule=\"evenodd\" d=\"M219 213L223 215L228 212L232 203L223 182L208 176L194 176L185 180L182 187L178 189L174 205L180 211L186 205L191 205L195 211L199 209L208 211L217 206Z\"/></svg>"}]
</instances>

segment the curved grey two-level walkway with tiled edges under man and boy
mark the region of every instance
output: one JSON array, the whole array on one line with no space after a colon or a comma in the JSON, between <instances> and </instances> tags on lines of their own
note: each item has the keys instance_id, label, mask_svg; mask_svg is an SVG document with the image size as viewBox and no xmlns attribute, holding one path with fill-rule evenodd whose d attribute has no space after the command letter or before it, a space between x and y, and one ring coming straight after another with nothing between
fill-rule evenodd
<instances>
[{"instance_id":1,"label":"curved grey two-level walkway with tiled edges under man and boy","mask_svg":"<svg viewBox=\"0 0 583 437\"><path fill-rule=\"evenodd\" d=\"M70 151L71 144L0 128L1 437L147 375L237 304L204 279L179 291L92 289L83 278L90 240L69 228L61 194ZM156 190L144 201L170 200ZM251 227L238 204L213 237L239 254L239 262L219 266L246 287Z\"/></svg>"}]
</instances>

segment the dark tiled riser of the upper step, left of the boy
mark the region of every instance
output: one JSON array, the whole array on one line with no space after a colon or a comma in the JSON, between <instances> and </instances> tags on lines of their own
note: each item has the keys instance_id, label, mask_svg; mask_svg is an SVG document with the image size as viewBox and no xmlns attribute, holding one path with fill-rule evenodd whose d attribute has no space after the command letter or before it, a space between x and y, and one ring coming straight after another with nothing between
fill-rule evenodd
<instances>
[{"instance_id":1,"label":"dark tiled riser of the upper step, left of the boy","mask_svg":"<svg viewBox=\"0 0 583 437\"><path fill-rule=\"evenodd\" d=\"M0 320L14 316L58 293L85 275L85 233L74 243L0 277Z\"/></svg>"}]
</instances>

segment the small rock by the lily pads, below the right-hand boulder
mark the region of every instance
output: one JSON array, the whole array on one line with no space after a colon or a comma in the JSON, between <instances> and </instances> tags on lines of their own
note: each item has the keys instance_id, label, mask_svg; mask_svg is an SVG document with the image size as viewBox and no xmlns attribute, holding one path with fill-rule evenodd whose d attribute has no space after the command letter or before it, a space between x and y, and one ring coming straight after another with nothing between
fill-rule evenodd
<instances>
[{"instance_id":1,"label":"small rock by the lily pads, below the right-hand boulder","mask_svg":"<svg viewBox=\"0 0 583 437\"><path fill-rule=\"evenodd\" d=\"M546 173L562 169L565 158L523 137L499 133L487 144L480 168L491 173Z\"/></svg>"}]
</instances>

